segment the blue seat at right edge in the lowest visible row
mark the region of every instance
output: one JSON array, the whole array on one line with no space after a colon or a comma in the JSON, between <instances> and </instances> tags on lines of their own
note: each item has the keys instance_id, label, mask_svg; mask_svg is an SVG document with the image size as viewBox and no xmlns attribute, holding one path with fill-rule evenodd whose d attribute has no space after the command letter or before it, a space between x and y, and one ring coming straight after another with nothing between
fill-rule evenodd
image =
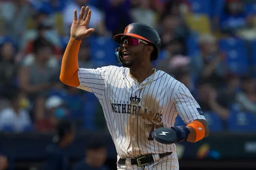
<instances>
[{"instance_id":1,"label":"blue seat at right edge in the lowest visible row","mask_svg":"<svg viewBox=\"0 0 256 170\"><path fill-rule=\"evenodd\" d=\"M231 111L228 130L234 132L256 132L256 117L252 113Z\"/></svg>"}]
</instances>

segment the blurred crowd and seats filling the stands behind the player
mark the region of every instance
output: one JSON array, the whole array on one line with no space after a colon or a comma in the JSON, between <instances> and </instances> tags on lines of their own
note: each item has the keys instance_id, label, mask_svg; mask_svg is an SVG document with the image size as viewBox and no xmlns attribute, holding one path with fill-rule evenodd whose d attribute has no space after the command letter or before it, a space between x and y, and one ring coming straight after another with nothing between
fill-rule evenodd
<instances>
[{"instance_id":1,"label":"blurred crowd and seats filling the stands behind the player","mask_svg":"<svg viewBox=\"0 0 256 170\"><path fill-rule=\"evenodd\" d=\"M82 41L80 67L117 65L112 36L131 22L148 24L162 40L154 66L190 89L210 128L239 122L256 130L254 0L0 0L1 130L49 132L62 119L106 129L96 97L59 80L81 6L92 10L96 31Z\"/></svg>"}]
</instances>

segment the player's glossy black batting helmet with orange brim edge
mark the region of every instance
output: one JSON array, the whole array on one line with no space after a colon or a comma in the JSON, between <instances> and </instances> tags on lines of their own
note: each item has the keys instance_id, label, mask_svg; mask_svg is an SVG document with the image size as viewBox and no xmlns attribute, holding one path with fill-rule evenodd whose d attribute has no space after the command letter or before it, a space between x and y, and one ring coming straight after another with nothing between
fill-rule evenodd
<instances>
[{"instance_id":1,"label":"player's glossy black batting helmet with orange brim edge","mask_svg":"<svg viewBox=\"0 0 256 170\"><path fill-rule=\"evenodd\" d=\"M154 30L154 28L142 23L132 23L126 26L126 28L124 29L124 34L117 34L114 36L113 39L115 42L121 43L121 38L123 36L138 38L148 42L150 45L153 45L154 51L151 55L151 61L158 58L158 52L161 47L161 39L156 30ZM122 63L121 47L116 48L116 58L118 63Z\"/></svg>"}]
</instances>

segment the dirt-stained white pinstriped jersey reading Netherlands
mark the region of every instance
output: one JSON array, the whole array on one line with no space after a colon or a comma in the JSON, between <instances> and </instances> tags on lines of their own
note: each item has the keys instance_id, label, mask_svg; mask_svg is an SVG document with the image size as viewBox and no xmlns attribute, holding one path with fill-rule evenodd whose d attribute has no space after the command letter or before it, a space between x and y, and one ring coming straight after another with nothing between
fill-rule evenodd
<instances>
[{"instance_id":1,"label":"dirt-stained white pinstriped jersey reading Netherlands","mask_svg":"<svg viewBox=\"0 0 256 170\"><path fill-rule=\"evenodd\" d=\"M78 77L77 88L93 92L100 101L120 157L176 152L175 144L159 143L150 132L174 126L177 114L187 124L196 119L205 120L185 85L164 71L157 70L152 83L142 89L126 67L80 68Z\"/></svg>"}]
</instances>

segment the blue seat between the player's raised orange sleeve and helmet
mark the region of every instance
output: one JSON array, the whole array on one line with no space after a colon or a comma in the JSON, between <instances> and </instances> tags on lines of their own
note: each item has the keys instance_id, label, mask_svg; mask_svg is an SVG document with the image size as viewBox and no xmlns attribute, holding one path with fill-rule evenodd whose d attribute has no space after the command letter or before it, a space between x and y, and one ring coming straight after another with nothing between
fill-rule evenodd
<instances>
[{"instance_id":1,"label":"blue seat between the player's raised orange sleeve and helmet","mask_svg":"<svg viewBox=\"0 0 256 170\"><path fill-rule=\"evenodd\" d=\"M92 37L89 39L92 61L96 67L116 65L116 45L112 38Z\"/></svg>"}]
</instances>

